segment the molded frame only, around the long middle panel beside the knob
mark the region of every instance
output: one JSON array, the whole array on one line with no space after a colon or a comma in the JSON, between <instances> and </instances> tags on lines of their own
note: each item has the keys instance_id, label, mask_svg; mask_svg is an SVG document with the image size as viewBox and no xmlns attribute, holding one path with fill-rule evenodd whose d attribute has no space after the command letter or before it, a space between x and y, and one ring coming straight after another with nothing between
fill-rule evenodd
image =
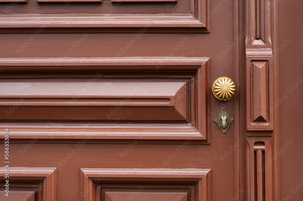
<instances>
[{"instance_id":1,"label":"molded frame only, around the long middle panel beside the knob","mask_svg":"<svg viewBox=\"0 0 303 201\"><path fill-rule=\"evenodd\" d=\"M15 139L141 139L199 140L209 144L209 58L208 57L126 57L126 58L6 58L0 60L0 70L18 71L145 71L188 72L191 90L191 124L56 124L0 123L10 129ZM202 112L205 111L205 112Z\"/></svg>"}]
</instances>

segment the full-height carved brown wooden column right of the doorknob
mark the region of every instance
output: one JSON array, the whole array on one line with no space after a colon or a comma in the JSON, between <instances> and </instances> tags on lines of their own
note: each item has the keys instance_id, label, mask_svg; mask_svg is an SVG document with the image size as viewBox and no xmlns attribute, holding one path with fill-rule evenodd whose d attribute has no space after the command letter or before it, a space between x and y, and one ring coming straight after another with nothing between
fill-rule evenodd
<instances>
[{"instance_id":1,"label":"full-height carved brown wooden column right of the doorknob","mask_svg":"<svg viewBox=\"0 0 303 201\"><path fill-rule=\"evenodd\" d=\"M278 201L276 2L246 0L247 201Z\"/></svg>"}]
</instances>

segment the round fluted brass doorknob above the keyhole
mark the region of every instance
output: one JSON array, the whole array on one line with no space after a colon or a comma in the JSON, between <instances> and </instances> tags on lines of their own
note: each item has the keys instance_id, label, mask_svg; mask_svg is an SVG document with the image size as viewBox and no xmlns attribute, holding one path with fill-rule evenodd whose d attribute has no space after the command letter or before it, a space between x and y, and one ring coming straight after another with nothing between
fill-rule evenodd
<instances>
[{"instance_id":1,"label":"round fluted brass doorknob above the keyhole","mask_svg":"<svg viewBox=\"0 0 303 201\"><path fill-rule=\"evenodd\" d=\"M235 83L228 77L219 77L212 85L212 93L219 100L229 100L236 92Z\"/></svg>"}]
</instances>

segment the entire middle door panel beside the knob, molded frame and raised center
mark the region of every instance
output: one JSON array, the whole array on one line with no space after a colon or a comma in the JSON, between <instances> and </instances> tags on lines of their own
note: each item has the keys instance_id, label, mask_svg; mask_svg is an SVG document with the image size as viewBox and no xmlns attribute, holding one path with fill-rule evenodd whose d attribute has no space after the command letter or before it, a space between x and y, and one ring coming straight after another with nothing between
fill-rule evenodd
<instances>
[{"instance_id":1,"label":"entire middle door panel beside the knob, molded frame and raised center","mask_svg":"<svg viewBox=\"0 0 303 201\"><path fill-rule=\"evenodd\" d=\"M18 110L17 108L14 111L16 113L12 113L12 117L9 117L10 121L13 120L15 123L3 122L0 124L1 127L10 128L11 138L75 139L83 138L83 133L85 133L85 138L90 139L190 139L209 143L208 129L210 122L207 119L209 108L206 107L209 105L208 101L210 98L209 58L3 59L0 64L0 70L2 70L0 84L4 89L0 93L1 110L8 110L11 107L9 105L16 102L16 98L19 100L22 98L22 101L17 101L20 108L45 107L43 110L45 111L44 117L41 117L42 114L35 114L39 116L38 119L44 119L45 122L33 124L22 122L35 117L28 116L31 115L29 112L20 116L19 113L23 112L23 110ZM39 71L38 74L35 73L37 70ZM45 72L45 75L43 75L41 70ZM62 74L62 71L66 70L74 70L78 73L73 73L72 77L66 78L68 75ZM14 73L11 73L12 71ZM26 79L22 79L23 81L19 79L18 82L15 82L13 78L18 78L18 72L20 71L27 72ZM141 73L136 73L136 71ZM58 123L53 121L47 123L48 117L46 114L52 112L52 106L66 107L66 110L71 112L72 108L68 104L71 103L70 99L75 95L73 88L81 87L83 84L81 80L75 82L75 79L94 79L96 72L100 75L98 77L100 79L93 82L89 90L79 95L79 101L72 103L72 108L78 108L74 110L76 113L79 112L77 114L78 117L73 115L77 123L62 122L62 120L60 120L61 123L58 122L59 118L64 117L64 113L59 116L56 113L52 114L52 118L56 117L53 120ZM110 76L106 75L109 72ZM52 83L47 84L53 85L52 89L50 89L52 93L45 94L45 87L43 86L47 80L43 79L42 81L40 80L41 82L39 81L41 85L38 85L39 87L36 87L33 93L26 96L22 95L22 91L26 91L31 83L36 83L38 78L49 77L51 74ZM22 77L25 78L24 72ZM132 77L132 79L129 79L129 77ZM107 79L107 84L101 81L105 78ZM109 82L109 78L116 81ZM137 81L134 81L134 79L137 79ZM125 91L127 91L125 89L131 89L135 84L145 90L138 90L133 94L125 94ZM60 88L58 89L59 85ZM162 92L157 90L159 88L157 86L160 85L160 88L165 89ZM115 86L115 89L112 90L113 86ZM62 87L64 90L62 90ZM146 89L150 89L148 94L146 94ZM109 90L111 90L112 94L110 96L107 95ZM125 102L125 95L128 97L127 102ZM111 101L108 101L108 98ZM96 100L98 100L98 103ZM115 101L115 104L112 103L112 100ZM123 105L123 110L121 110L123 116L117 114L117 116L112 115L112 119L108 119L106 114L100 114L104 112L102 108L108 109L108 107L116 107L118 104L121 104L121 107ZM92 110L90 115L88 115L88 117L91 116L91 119L83 121L84 119L81 117L82 107L98 107L99 109ZM142 110L145 110L145 114L148 115L131 117L129 112L123 112L128 107L140 110L141 113ZM149 113L148 107L151 108ZM158 109L153 110L152 108ZM169 112L167 113L166 110ZM58 112L60 113L60 111ZM15 116L15 114L18 115ZM123 122L125 120L132 122L132 124ZM69 121L73 120L69 119Z\"/></svg>"}]
</instances>

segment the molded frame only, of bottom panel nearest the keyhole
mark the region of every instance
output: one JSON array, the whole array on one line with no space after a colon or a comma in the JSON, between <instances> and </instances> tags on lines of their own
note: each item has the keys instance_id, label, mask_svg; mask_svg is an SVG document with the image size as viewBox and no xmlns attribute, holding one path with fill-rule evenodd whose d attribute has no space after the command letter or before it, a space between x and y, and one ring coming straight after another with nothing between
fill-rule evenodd
<instances>
[{"instance_id":1,"label":"molded frame only, of bottom panel nearest the keyhole","mask_svg":"<svg viewBox=\"0 0 303 201\"><path fill-rule=\"evenodd\" d=\"M94 182L193 182L197 200L210 201L210 169L97 169L82 168L80 175L82 201L94 200Z\"/></svg>"}]
</instances>

